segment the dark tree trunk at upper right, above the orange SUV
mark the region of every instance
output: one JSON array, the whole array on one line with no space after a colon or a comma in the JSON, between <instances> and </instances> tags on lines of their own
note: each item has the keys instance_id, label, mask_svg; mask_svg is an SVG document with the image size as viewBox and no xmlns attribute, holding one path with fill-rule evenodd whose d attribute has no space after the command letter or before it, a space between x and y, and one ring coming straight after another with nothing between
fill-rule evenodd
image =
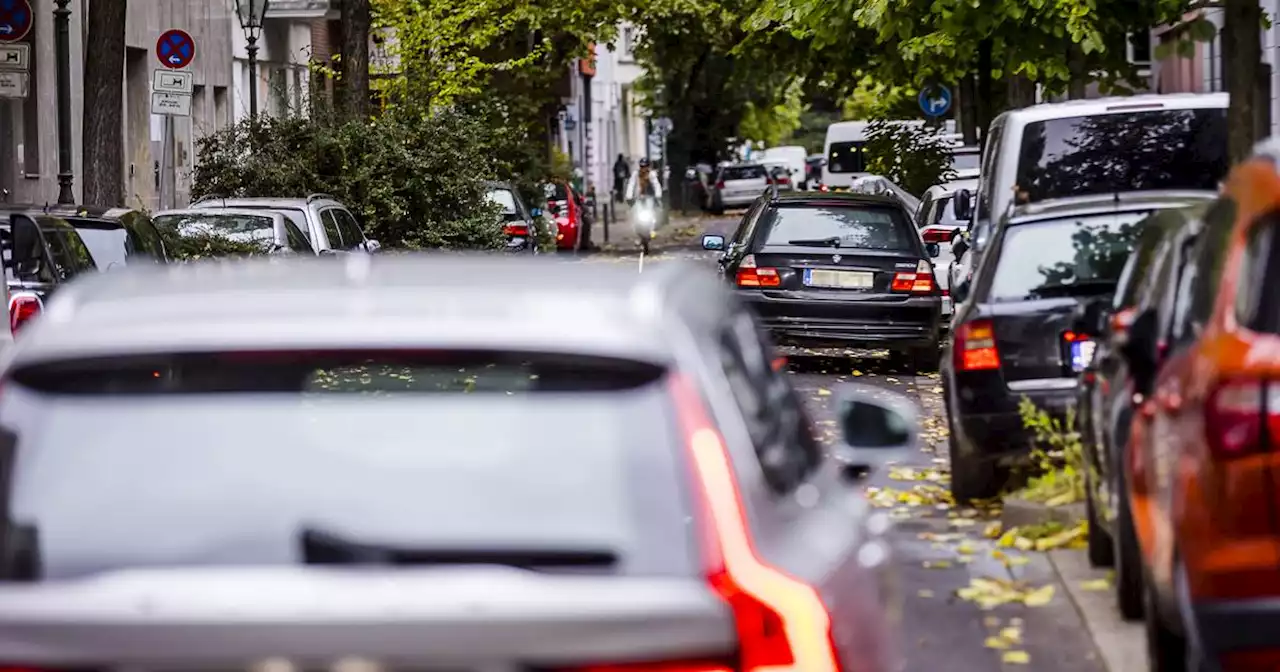
<instances>
[{"instance_id":1,"label":"dark tree trunk at upper right, above the orange SUV","mask_svg":"<svg viewBox=\"0 0 1280 672\"><path fill-rule=\"evenodd\" d=\"M1257 142L1258 63L1262 61L1262 6L1258 0L1226 0L1224 5L1222 54L1226 92L1231 96L1226 110L1226 148L1231 161L1249 156Z\"/></svg>"}]
</instances>

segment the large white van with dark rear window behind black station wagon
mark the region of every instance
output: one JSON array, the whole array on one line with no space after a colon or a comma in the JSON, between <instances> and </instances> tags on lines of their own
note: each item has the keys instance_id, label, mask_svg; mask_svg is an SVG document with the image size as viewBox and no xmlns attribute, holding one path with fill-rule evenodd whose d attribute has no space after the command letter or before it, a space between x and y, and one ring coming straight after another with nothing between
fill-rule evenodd
<instances>
[{"instance_id":1,"label":"large white van with dark rear window behind black station wagon","mask_svg":"<svg viewBox=\"0 0 1280 672\"><path fill-rule=\"evenodd\" d=\"M974 250L982 251L1015 201L1216 192L1230 168L1226 104L1226 93L1170 93L1074 100L1000 114L982 152L970 224Z\"/></svg>"}]
</instances>

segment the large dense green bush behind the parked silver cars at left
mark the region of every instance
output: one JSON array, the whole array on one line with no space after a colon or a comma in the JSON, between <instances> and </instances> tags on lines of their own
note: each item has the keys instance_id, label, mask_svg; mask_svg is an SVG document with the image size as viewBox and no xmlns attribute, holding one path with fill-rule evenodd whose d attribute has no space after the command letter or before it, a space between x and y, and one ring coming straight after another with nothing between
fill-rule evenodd
<instances>
[{"instance_id":1,"label":"large dense green bush behind the parked silver cars at left","mask_svg":"<svg viewBox=\"0 0 1280 672\"><path fill-rule=\"evenodd\" d=\"M200 141L192 196L334 195L389 247L497 248L485 179L509 146L497 113L453 106L370 122L243 122ZM500 115L499 115L500 116Z\"/></svg>"}]
</instances>

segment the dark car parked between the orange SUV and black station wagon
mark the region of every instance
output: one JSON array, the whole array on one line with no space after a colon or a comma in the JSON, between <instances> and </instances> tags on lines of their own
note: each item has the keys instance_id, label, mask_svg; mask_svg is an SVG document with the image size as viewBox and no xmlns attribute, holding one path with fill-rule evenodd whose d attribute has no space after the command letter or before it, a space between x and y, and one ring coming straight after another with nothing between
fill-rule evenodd
<instances>
[{"instance_id":1,"label":"dark car parked between the orange SUV and black station wagon","mask_svg":"<svg viewBox=\"0 0 1280 672\"><path fill-rule=\"evenodd\" d=\"M1082 306L1074 326L1097 342L1093 362L1080 375L1076 413L1088 467L1089 562L1115 566L1117 603L1126 618L1142 616L1143 596L1142 558L1124 476L1134 394L1139 389L1124 352L1138 312L1172 297L1176 283L1171 273L1185 264L1185 251L1199 233L1204 210L1206 205L1196 205L1148 218L1120 273L1115 296Z\"/></svg>"}]
</instances>

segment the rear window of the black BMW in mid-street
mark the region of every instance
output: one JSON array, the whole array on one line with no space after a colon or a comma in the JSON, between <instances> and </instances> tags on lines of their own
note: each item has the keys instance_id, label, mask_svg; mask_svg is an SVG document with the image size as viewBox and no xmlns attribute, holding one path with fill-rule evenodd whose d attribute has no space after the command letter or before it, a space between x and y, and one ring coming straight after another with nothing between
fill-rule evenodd
<instances>
[{"instance_id":1,"label":"rear window of the black BMW in mid-street","mask_svg":"<svg viewBox=\"0 0 1280 672\"><path fill-rule=\"evenodd\" d=\"M768 215L765 246L914 251L915 229L893 207L787 206Z\"/></svg>"}]
</instances>

